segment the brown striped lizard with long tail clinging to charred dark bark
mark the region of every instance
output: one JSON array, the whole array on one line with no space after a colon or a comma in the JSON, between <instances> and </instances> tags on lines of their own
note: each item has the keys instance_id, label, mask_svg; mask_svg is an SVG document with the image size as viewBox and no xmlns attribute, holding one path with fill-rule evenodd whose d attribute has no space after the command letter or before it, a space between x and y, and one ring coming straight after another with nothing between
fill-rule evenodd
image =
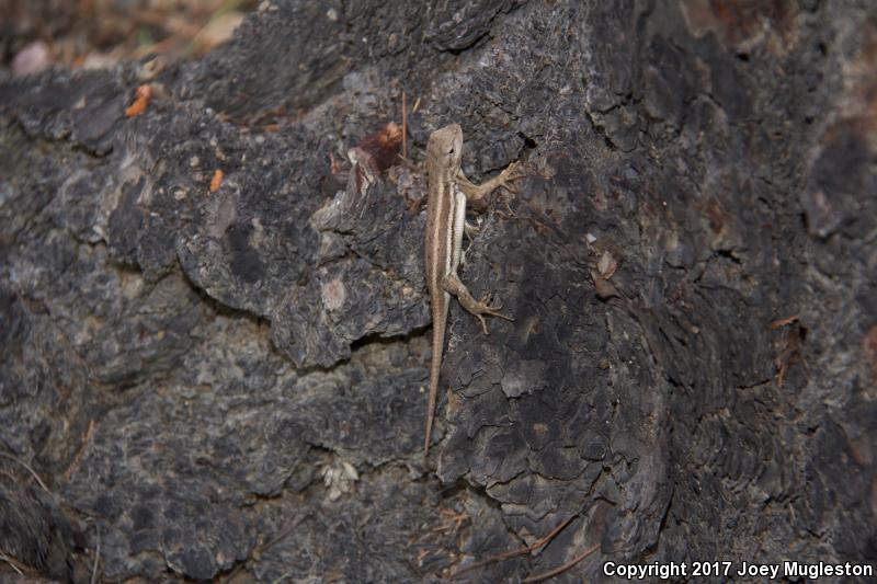
<instances>
[{"instance_id":1,"label":"brown striped lizard with long tail clinging to charred dark bark","mask_svg":"<svg viewBox=\"0 0 877 584\"><path fill-rule=\"evenodd\" d=\"M432 313L432 360L430 363L430 394L426 405L426 438L423 459L430 454L430 438L435 419L438 394L438 375L442 369L445 327L451 295L475 316L481 330L488 334L483 314L509 321L512 317L500 312L501 305L492 305L489 295L476 300L457 275L463 259L463 232L466 226L466 203L479 204L494 190L506 186L522 176L519 162L509 164L498 176L477 185L466 179L460 169L463 129L451 124L433 131L426 142L426 233L425 271Z\"/></svg>"}]
</instances>

